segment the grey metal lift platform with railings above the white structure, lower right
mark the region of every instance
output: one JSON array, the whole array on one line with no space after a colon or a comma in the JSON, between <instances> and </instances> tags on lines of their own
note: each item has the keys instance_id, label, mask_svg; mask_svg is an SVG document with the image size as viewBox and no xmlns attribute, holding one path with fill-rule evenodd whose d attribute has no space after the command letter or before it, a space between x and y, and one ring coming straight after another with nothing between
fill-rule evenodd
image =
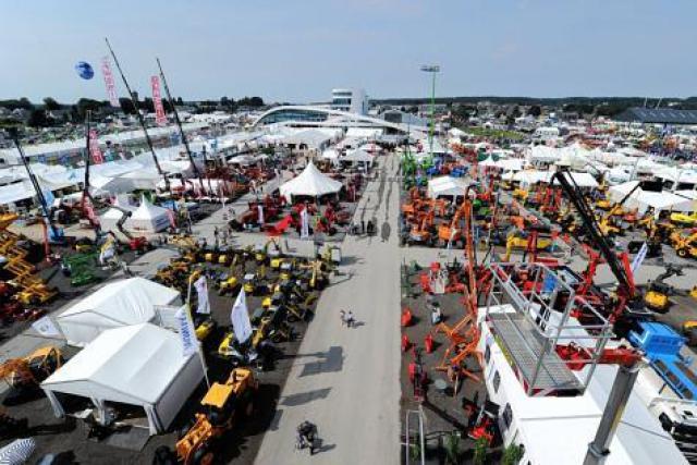
<instances>
[{"instance_id":1,"label":"grey metal lift platform with railings above the white structure, lower right","mask_svg":"<svg viewBox=\"0 0 697 465\"><path fill-rule=\"evenodd\" d=\"M575 395L588 387L612 327L596 308L576 296L574 278L542 264L490 264L492 285L487 321L506 352L528 395ZM590 316L583 325L573 315ZM573 363L558 346L583 347Z\"/></svg>"}]
</instances>

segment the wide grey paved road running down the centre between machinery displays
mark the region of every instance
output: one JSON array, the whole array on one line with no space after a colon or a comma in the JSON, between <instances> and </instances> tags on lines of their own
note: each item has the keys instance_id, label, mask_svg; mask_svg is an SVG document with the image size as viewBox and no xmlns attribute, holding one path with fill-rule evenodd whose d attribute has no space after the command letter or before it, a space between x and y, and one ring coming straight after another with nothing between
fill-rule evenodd
<instances>
[{"instance_id":1,"label":"wide grey paved road running down the centre between machinery displays","mask_svg":"<svg viewBox=\"0 0 697 465\"><path fill-rule=\"evenodd\" d=\"M399 187L387 180L396 171L396 161L395 156L382 160L386 171L368 185L358 218L396 224ZM379 235L347 236L342 252L344 276L319 299L258 464L399 462L399 241L394 233L387 242ZM342 308L354 313L357 328L341 326ZM321 452L311 458L307 451L293 449L295 427L304 419L318 425L323 440Z\"/></svg>"}]
</instances>

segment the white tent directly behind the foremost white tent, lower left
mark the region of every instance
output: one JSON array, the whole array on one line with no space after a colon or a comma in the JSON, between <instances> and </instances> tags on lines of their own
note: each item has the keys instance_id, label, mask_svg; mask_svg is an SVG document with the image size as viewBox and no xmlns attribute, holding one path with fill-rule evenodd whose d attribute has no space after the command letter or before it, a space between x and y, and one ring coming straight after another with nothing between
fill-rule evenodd
<instances>
[{"instance_id":1,"label":"white tent directly behind the foremost white tent, lower left","mask_svg":"<svg viewBox=\"0 0 697 465\"><path fill-rule=\"evenodd\" d=\"M152 321L156 305L174 305L179 292L144 278L112 282L56 319L71 345L82 346L110 328Z\"/></svg>"}]
</instances>

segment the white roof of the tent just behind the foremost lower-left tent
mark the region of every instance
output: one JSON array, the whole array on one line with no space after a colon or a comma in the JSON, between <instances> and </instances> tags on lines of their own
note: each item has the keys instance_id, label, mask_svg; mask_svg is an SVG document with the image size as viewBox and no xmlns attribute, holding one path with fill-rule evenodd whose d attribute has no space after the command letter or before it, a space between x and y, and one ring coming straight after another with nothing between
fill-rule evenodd
<instances>
[{"instance_id":1,"label":"white roof of the tent just behind the foremost lower-left tent","mask_svg":"<svg viewBox=\"0 0 697 465\"><path fill-rule=\"evenodd\" d=\"M155 305L168 305L179 292L146 280L131 278L100 287L58 316L58 321L80 319L85 323L110 320L135 325L155 315Z\"/></svg>"}]
</instances>

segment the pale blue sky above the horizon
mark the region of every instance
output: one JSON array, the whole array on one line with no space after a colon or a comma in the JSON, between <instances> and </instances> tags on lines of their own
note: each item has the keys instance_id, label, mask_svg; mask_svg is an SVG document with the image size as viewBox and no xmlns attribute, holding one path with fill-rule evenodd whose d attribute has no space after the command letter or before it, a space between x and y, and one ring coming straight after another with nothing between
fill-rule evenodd
<instances>
[{"instance_id":1,"label":"pale blue sky above the horizon","mask_svg":"<svg viewBox=\"0 0 697 465\"><path fill-rule=\"evenodd\" d=\"M105 36L140 96L159 57L184 100L425 97L426 63L439 96L688 97L695 17L694 0L3 1L0 99L107 99Z\"/></svg>"}]
</instances>

